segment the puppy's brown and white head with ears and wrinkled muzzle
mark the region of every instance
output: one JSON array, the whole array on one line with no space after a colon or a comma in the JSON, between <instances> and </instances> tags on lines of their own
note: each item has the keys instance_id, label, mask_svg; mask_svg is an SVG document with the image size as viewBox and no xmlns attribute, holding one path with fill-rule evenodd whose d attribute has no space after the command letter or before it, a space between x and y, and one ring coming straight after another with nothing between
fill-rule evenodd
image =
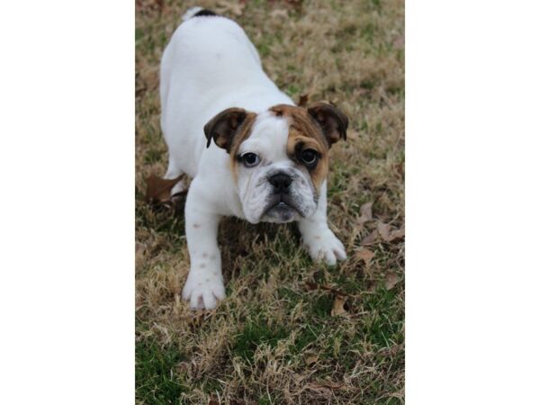
<instances>
[{"instance_id":1,"label":"puppy's brown and white head with ears and wrinkled muzzle","mask_svg":"<svg viewBox=\"0 0 540 405\"><path fill-rule=\"evenodd\" d=\"M276 105L256 114L229 108L204 126L230 155L248 221L289 222L317 210L329 171L329 148L347 137L347 117L327 103Z\"/></svg>"}]
</instances>

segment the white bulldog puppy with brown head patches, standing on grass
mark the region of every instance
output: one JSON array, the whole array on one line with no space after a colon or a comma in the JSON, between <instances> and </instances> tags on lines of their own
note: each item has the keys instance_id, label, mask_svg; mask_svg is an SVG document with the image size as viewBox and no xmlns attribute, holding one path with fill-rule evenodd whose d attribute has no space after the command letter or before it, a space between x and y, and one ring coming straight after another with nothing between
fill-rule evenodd
<instances>
[{"instance_id":1,"label":"white bulldog puppy with brown head patches, standing on grass","mask_svg":"<svg viewBox=\"0 0 540 405\"><path fill-rule=\"evenodd\" d=\"M195 8L184 14L161 61L161 127L167 179L193 178L185 202L191 260L183 298L193 309L225 297L218 224L298 221L313 259L345 259L329 229L329 148L346 139L347 117L328 103L308 108L266 76L237 23ZM172 193L185 188L175 184Z\"/></svg>"}]
</instances>

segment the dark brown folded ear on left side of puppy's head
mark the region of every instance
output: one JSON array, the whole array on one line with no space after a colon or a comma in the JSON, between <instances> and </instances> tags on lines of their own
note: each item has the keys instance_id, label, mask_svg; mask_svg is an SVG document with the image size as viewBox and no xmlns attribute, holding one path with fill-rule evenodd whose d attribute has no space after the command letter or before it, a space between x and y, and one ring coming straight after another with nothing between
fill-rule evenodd
<instances>
[{"instance_id":1,"label":"dark brown folded ear on left side of puppy's head","mask_svg":"<svg viewBox=\"0 0 540 405\"><path fill-rule=\"evenodd\" d=\"M242 123L246 121L247 113L243 108L228 108L208 121L204 125L204 135L208 139L206 148L210 148L211 139L214 139L217 146L227 149L229 153L232 139Z\"/></svg>"}]
</instances>

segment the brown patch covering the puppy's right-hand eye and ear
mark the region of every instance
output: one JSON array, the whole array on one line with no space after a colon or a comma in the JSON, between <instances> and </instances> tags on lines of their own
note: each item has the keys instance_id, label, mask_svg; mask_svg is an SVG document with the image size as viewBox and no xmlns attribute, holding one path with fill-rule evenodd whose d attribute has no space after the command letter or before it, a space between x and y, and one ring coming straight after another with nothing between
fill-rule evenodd
<instances>
[{"instance_id":1,"label":"brown patch covering the puppy's right-hand eye and ear","mask_svg":"<svg viewBox=\"0 0 540 405\"><path fill-rule=\"evenodd\" d=\"M328 106L328 107L327 107ZM314 109L313 109L314 108ZM290 122L289 139L287 141L287 155L300 165L306 167L311 175L311 181L319 191L320 185L326 179L329 172L329 148L338 139L335 137L335 129L347 130L347 117L343 113L340 118L345 117L343 121L333 119L335 107L316 103L313 108L302 108L293 105L275 105L270 109L277 117L285 117ZM320 112L319 116L314 116L315 112ZM327 120L327 121L323 121ZM344 137L345 138L345 135ZM317 164L314 166L306 165L302 161L302 152L312 149L318 155Z\"/></svg>"}]
</instances>

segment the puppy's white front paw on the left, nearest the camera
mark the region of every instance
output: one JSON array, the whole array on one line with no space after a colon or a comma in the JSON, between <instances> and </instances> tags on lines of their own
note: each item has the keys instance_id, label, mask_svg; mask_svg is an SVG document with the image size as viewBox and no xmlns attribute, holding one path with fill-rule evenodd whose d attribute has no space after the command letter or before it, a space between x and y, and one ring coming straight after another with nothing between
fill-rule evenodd
<instances>
[{"instance_id":1,"label":"puppy's white front paw on the left, nearest the camera","mask_svg":"<svg viewBox=\"0 0 540 405\"><path fill-rule=\"evenodd\" d=\"M182 298L193 310L211 310L218 300L225 298L225 286L220 274L210 271L190 271L185 281Z\"/></svg>"}]
</instances>

